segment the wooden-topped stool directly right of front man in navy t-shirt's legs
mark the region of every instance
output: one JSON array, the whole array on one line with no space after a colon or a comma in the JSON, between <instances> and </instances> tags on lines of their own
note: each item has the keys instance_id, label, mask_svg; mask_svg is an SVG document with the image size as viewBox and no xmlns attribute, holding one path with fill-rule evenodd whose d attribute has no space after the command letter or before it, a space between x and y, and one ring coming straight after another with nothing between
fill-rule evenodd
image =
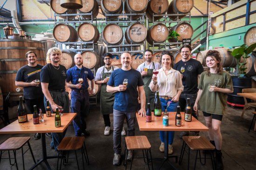
<instances>
[{"instance_id":1,"label":"wooden-topped stool directly right of front man in navy t-shirt's legs","mask_svg":"<svg viewBox=\"0 0 256 170\"><path fill-rule=\"evenodd\" d=\"M125 169L127 168L128 151L142 150L143 157L136 157L136 158L143 158L144 162L145 162L145 155L146 155L148 170L150 170L149 169L149 161L148 161L148 152L149 152L151 164L152 164L152 170L153 170L153 162L152 162L152 156L151 156L151 145L148 141L148 138L146 136L127 136L127 137L125 137L125 142L126 142L126 147L125 147L125 151L124 151L124 155L126 155L126 158L124 161ZM145 155L144 155L144 151L145 151ZM130 170L132 169L133 158L134 158L134 155L132 157Z\"/></svg>"}]
</instances>

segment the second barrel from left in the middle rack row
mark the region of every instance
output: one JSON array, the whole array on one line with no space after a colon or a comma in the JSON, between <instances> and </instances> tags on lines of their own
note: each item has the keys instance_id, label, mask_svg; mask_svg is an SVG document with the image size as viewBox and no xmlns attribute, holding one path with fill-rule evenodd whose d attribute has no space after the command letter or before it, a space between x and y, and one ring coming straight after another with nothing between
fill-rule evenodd
<instances>
[{"instance_id":1,"label":"second barrel from left in the middle rack row","mask_svg":"<svg viewBox=\"0 0 256 170\"><path fill-rule=\"evenodd\" d=\"M82 41L93 41L94 43L97 43L100 38L100 32L97 26L92 25L91 23L81 24L78 27L77 33Z\"/></svg>"}]
</instances>

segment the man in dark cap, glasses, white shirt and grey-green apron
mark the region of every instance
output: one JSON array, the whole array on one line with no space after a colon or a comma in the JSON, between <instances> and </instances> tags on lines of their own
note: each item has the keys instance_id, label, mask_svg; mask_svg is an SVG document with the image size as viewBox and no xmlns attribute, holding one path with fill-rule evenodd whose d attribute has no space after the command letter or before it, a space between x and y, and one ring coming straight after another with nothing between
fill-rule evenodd
<instances>
[{"instance_id":1,"label":"man in dark cap, glasses, white shirt and grey-green apron","mask_svg":"<svg viewBox=\"0 0 256 170\"><path fill-rule=\"evenodd\" d=\"M101 114L103 115L105 131L104 135L109 135L110 132L110 118L109 114L113 113L113 105L115 100L115 94L108 93L107 82L109 76L115 69L119 69L117 66L112 65L112 54L105 53L102 57L105 65L97 70L95 76L95 84L101 84Z\"/></svg>"}]
</instances>

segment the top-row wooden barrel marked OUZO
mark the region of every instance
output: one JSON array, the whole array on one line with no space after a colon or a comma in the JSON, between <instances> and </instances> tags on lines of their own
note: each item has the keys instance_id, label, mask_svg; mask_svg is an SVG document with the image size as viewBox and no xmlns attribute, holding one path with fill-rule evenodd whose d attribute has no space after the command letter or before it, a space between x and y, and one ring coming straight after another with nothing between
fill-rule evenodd
<instances>
[{"instance_id":1,"label":"top-row wooden barrel marked OUZO","mask_svg":"<svg viewBox=\"0 0 256 170\"><path fill-rule=\"evenodd\" d=\"M144 13L148 6L148 0L126 0L124 5L125 13ZM132 19L139 18L140 15L132 15Z\"/></svg>"}]
</instances>

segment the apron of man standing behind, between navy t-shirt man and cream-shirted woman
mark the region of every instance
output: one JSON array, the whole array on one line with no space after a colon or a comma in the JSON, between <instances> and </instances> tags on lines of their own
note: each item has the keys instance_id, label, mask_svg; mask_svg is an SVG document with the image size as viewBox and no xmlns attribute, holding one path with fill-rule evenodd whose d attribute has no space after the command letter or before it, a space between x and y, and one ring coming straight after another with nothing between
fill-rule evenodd
<instances>
[{"instance_id":1,"label":"apron of man standing behind, between navy t-shirt man and cream-shirted woman","mask_svg":"<svg viewBox=\"0 0 256 170\"><path fill-rule=\"evenodd\" d=\"M146 63L146 62L145 62ZM144 67L145 67L145 63L144 63ZM153 62L153 69L155 69L155 64ZM144 90L145 90L145 95L146 95L146 110L148 107L148 103L150 103L150 109L153 110L154 107L154 100L155 100L155 92L152 92L150 90L150 88L148 87L151 80L152 80L152 76L153 76L153 69L148 69L148 73L146 76L142 77L142 80L144 82Z\"/></svg>"}]
</instances>

